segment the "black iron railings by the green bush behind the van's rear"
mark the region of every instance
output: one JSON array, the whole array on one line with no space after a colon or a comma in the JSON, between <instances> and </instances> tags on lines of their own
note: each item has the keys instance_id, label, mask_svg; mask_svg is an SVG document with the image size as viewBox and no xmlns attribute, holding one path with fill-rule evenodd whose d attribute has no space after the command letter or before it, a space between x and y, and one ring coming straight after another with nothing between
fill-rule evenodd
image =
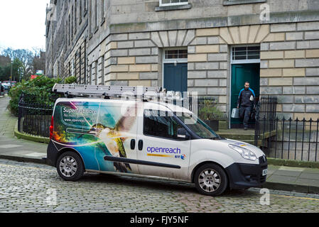
<instances>
[{"instance_id":1,"label":"black iron railings by the green bush behind the van's rear","mask_svg":"<svg viewBox=\"0 0 319 227\"><path fill-rule=\"evenodd\" d=\"M50 136L52 104L38 104L34 94L22 94L18 102L18 131L28 135Z\"/></svg>"}]
</instances>

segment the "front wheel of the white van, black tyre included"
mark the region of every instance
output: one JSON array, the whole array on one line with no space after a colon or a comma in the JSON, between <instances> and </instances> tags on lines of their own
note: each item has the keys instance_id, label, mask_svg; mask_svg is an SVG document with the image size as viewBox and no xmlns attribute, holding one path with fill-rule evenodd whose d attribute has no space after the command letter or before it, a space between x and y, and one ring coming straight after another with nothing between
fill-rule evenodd
<instances>
[{"instance_id":1,"label":"front wheel of the white van, black tyre included","mask_svg":"<svg viewBox=\"0 0 319 227\"><path fill-rule=\"evenodd\" d=\"M200 194L218 196L227 188L227 175L222 167L215 164L205 164L195 172L195 187Z\"/></svg>"}]
</instances>

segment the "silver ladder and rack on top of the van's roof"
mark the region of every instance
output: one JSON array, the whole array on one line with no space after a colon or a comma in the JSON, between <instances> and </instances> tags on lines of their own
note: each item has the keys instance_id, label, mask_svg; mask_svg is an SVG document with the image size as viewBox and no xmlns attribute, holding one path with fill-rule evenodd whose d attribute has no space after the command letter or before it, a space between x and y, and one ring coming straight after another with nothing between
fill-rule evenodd
<instances>
[{"instance_id":1,"label":"silver ladder and rack on top of the van's roof","mask_svg":"<svg viewBox=\"0 0 319 227\"><path fill-rule=\"evenodd\" d=\"M79 84L55 84L53 92L64 94L65 97L101 97L104 99L141 97L147 99L157 96L161 99L182 99L178 92L167 92L161 87L131 87L131 86L106 86L106 85L79 85Z\"/></svg>"}]
</instances>

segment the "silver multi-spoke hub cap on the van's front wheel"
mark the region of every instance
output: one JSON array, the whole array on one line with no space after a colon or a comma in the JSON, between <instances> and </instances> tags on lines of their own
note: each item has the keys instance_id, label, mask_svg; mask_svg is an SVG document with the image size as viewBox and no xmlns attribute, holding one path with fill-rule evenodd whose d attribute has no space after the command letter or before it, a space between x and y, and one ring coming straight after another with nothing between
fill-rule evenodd
<instances>
[{"instance_id":1,"label":"silver multi-spoke hub cap on the van's front wheel","mask_svg":"<svg viewBox=\"0 0 319 227\"><path fill-rule=\"evenodd\" d=\"M208 169L200 173L198 182L205 192L215 192L220 187L221 179L215 170Z\"/></svg>"}]
</instances>

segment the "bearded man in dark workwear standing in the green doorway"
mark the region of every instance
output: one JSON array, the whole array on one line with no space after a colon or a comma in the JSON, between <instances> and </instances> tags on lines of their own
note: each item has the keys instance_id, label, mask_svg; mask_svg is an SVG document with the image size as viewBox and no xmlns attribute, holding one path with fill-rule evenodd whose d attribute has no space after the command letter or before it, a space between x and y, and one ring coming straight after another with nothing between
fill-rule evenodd
<instances>
[{"instance_id":1,"label":"bearded man in dark workwear standing in the green doorway","mask_svg":"<svg viewBox=\"0 0 319 227\"><path fill-rule=\"evenodd\" d=\"M249 88L249 82L245 82L244 88L239 92L237 101L237 108L240 107L239 117L242 119L244 118L244 130L247 130L249 116L252 112L252 105L255 106L255 98L254 91Z\"/></svg>"}]
</instances>

